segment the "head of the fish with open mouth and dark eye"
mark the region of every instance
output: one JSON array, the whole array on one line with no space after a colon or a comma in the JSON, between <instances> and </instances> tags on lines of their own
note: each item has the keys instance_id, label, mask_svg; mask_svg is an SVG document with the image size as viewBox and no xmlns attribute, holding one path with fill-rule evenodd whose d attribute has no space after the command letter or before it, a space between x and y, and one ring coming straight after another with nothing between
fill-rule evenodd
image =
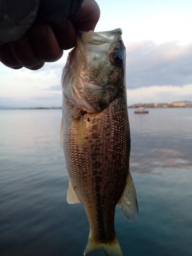
<instances>
[{"instance_id":1,"label":"head of the fish with open mouth and dark eye","mask_svg":"<svg viewBox=\"0 0 192 256\"><path fill-rule=\"evenodd\" d=\"M63 69L62 88L84 111L103 111L125 87L125 47L121 34L121 29L116 29L77 35L77 46Z\"/></svg>"}]
</instances>

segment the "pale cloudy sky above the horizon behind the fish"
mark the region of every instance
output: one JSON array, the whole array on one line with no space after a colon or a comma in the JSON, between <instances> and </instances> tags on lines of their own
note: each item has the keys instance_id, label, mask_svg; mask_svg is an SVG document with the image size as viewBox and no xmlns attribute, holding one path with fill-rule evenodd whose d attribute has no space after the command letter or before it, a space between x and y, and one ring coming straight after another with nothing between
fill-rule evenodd
<instances>
[{"instance_id":1,"label":"pale cloudy sky above the horizon behind the fish","mask_svg":"<svg viewBox=\"0 0 192 256\"><path fill-rule=\"evenodd\" d=\"M192 101L192 1L96 0L95 31L122 29L127 104ZM0 62L0 108L61 106L60 77L69 51L37 71Z\"/></svg>"}]
</instances>

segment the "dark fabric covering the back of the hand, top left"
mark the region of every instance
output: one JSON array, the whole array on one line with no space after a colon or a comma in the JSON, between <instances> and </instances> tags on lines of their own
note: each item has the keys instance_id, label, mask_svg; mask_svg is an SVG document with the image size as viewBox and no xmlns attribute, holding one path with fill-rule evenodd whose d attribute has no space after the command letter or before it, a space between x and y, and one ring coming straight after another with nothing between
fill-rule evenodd
<instances>
[{"instance_id":1,"label":"dark fabric covering the back of the hand, top left","mask_svg":"<svg viewBox=\"0 0 192 256\"><path fill-rule=\"evenodd\" d=\"M0 45L19 39L36 23L57 24L76 15L83 0L0 0Z\"/></svg>"}]
</instances>

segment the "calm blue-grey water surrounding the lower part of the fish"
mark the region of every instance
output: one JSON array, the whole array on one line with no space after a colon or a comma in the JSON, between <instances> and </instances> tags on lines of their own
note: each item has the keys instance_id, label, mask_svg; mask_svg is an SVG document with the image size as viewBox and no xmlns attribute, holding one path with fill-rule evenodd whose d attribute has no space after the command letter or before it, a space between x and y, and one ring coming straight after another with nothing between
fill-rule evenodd
<instances>
[{"instance_id":1,"label":"calm blue-grey water surrounding the lower part of the fish","mask_svg":"<svg viewBox=\"0 0 192 256\"><path fill-rule=\"evenodd\" d=\"M191 256L192 109L129 109L129 116L140 212L130 223L116 208L122 250ZM1 110L0 120L0 255L83 255L89 224L82 205L66 202L61 110Z\"/></svg>"}]
</instances>

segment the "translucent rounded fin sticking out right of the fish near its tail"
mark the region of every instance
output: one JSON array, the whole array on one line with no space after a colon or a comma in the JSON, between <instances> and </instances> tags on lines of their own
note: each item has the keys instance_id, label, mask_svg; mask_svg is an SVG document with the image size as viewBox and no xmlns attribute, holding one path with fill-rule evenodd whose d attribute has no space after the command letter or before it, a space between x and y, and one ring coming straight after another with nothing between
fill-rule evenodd
<instances>
[{"instance_id":1,"label":"translucent rounded fin sticking out right of the fish near its tail","mask_svg":"<svg viewBox=\"0 0 192 256\"><path fill-rule=\"evenodd\" d=\"M126 185L118 204L127 220L133 222L137 219L137 195L130 172L127 175Z\"/></svg>"}]
</instances>

